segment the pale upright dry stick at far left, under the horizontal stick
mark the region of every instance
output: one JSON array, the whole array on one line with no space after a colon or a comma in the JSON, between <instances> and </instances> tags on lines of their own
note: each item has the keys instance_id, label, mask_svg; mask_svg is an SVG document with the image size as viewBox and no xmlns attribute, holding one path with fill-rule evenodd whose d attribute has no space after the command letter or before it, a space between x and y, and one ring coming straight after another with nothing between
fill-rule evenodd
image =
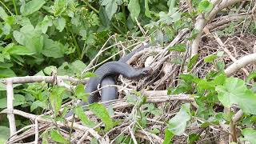
<instances>
[{"instance_id":1,"label":"pale upright dry stick at far left, under the horizontal stick","mask_svg":"<svg viewBox=\"0 0 256 144\"><path fill-rule=\"evenodd\" d=\"M12 111L14 110L14 86L11 78L6 79L6 93L7 93L7 110L10 113L7 114L10 126L10 135L16 132L15 118Z\"/></svg>"}]
</instances>

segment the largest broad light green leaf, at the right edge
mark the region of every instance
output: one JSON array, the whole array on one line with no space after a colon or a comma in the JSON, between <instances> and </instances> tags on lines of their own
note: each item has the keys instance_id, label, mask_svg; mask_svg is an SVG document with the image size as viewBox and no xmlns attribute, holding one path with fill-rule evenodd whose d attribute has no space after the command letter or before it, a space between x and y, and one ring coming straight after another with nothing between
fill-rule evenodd
<instances>
[{"instance_id":1,"label":"largest broad light green leaf, at the right edge","mask_svg":"<svg viewBox=\"0 0 256 144\"><path fill-rule=\"evenodd\" d=\"M223 86L216 86L218 100L223 106L230 107L233 104L240 106L243 112L256 114L256 95L248 90L245 82L238 78L226 78Z\"/></svg>"}]
</instances>

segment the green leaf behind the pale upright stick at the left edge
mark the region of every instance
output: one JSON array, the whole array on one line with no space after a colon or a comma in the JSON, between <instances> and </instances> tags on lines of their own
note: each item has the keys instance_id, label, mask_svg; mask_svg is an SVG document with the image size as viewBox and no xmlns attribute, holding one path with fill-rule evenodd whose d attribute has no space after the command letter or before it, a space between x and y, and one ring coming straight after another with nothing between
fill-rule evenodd
<instances>
[{"instance_id":1,"label":"green leaf behind the pale upright stick at the left edge","mask_svg":"<svg viewBox=\"0 0 256 144\"><path fill-rule=\"evenodd\" d=\"M19 106L26 103L26 99L23 95L21 94L14 94L14 106ZM4 109L7 106L7 98L2 98L0 99L0 108Z\"/></svg>"}]
</instances>

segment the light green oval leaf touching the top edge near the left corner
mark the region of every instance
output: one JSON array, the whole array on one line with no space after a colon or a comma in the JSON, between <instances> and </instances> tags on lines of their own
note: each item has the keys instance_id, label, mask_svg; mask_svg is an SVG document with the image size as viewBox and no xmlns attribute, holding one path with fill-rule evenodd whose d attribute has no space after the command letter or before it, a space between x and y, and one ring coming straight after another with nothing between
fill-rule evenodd
<instances>
[{"instance_id":1,"label":"light green oval leaf touching the top edge near the left corner","mask_svg":"<svg viewBox=\"0 0 256 144\"><path fill-rule=\"evenodd\" d=\"M21 13L22 15L33 14L34 12L40 10L40 8L45 4L44 0L32 0L27 2L25 6L22 6Z\"/></svg>"}]
</instances>

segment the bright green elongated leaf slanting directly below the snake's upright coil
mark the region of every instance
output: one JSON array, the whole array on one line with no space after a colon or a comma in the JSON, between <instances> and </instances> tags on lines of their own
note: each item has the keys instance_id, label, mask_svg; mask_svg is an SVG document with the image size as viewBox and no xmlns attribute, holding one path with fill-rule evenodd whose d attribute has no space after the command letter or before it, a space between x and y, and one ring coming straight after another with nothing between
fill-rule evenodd
<instances>
[{"instance_id":1,"label":"bright green elongated leaf slanting directly below the snake's upright coil","mask_svg":"<svg viewBox=\"0 0 256 144\"><path fill-rule=\"evenodd\" d=\"M93 103L89 106L89 109L105 123L105 130L110 130L114 124L110 118L109 113L106 110L106 107L99 103Z\"/></svg>"}]
</instances>

